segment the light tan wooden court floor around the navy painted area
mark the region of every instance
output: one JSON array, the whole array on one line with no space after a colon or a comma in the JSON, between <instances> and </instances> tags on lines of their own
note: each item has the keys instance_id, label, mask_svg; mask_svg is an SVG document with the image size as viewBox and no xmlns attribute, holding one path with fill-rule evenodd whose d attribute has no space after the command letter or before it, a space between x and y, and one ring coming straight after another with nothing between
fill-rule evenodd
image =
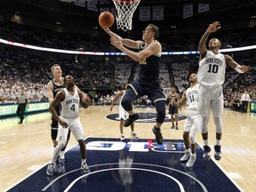
<instances>
[{"instance_id":1,"label":"light tan wooden court floor around the navy painted area","mask_svg":"<svg viewBox=\"0 0 256 192\"><path fill-rule=\"evenodd\" d=\"M84 125L85 137L119 138L119 122L105 117L117 113L117 110L117 106L113 112L109 111L109 106L81 109L80 118ZM135 110L155 112L154 108ZM183 108L180 114L186 114L186 108ZM52 156L50 119L49 113L42 113L26 116L24 124L18 124L18 118L0 120L0 191L6 191L50 161ZM164 123L162 127L164 138L182 139L183 124L184 121L179 122L180 129L173 130L170 122ZM216 164L244 192L253 192L256 186L256 116L225 110L223 124L222 159ZM135 132L140 138L154 139L154 134L151 132L153 126L154 123L136 123ZM212 118L209 130L209 143L213 148L215 132ZM126 138L130 136L130 128L124 128L124 135ZM197 141L202 146L200 134L197 136ZM75 145L76 140L71 136L67 150Z\"/></svg>"}]
</instances>

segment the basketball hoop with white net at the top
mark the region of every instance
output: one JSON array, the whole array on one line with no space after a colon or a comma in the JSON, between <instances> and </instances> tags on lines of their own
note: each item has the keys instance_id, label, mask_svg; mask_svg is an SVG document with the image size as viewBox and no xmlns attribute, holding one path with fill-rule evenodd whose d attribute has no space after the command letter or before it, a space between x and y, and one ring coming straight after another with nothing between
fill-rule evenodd
<instances>
[{"instance_id":1,"label":"basketball hoop with white net at the top","mask_svg":"<svg viewBox=\"0 0 256 192\"><path fill-rule=\"evenodd\" d=\"M116 25L117 28L122 28L124 31L132 29L132 17L138 4L141 0L112 0L116 6L117 14Z\"/></svg>"}]
</instances>

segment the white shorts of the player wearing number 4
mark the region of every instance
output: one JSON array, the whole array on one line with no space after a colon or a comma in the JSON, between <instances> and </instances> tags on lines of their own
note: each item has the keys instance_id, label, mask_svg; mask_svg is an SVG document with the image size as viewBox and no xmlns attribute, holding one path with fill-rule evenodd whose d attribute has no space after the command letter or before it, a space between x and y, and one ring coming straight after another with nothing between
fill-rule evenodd
<instances>
[{"instance_id":1,"label":"white shorts of the player wearing number 4","mask_svg":"<svg viewBox=\"0 0 256 192\"><path fill-rule=\"evenodd\" d=\"M76 140L84 140L84 129L83 129L82 124L80 123L79 117L66 118L66 117L60 116L60 119L68 124L68 128L73 133ZM67 140L68 128L63 128L59 124L57 141L60 140L60 138Z\"/></svg>"}]
</instances>

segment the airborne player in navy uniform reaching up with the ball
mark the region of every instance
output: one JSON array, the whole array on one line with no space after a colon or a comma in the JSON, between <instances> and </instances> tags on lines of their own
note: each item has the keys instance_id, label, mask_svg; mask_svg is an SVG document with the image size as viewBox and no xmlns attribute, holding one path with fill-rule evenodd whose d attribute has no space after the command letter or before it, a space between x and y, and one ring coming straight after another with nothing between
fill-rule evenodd
<instances>
[{"instance_id":1,"label":"airborne player in navy uniform reaching up with the ball","mask_svg":"<svg viewBox=\"0 0 256 192\"><path fill-rule=\"evenodd\" d=\"M128 84L129 88L121 103L129 113L129 117L124 121L124 126L130 126L139 119L139 115L134 113L132 109L132 102L143 95L148 95L148 99L154 104L157 113L156 125L152 131L156 135L156 142L162 144L161 125L164 123L166 98L160 87L159 80L159 64L162 54L162 45L156 40L159 35L159 28L156 25L148 24L147 28L143 30L143 41L124 39L110 31L109 28L103 29L110 36L111 44L132 58L132 60L140 62L139 78L132 84ZM137 49L140 52L132 52L126 47Z\"/></svg>"}]
</instances>

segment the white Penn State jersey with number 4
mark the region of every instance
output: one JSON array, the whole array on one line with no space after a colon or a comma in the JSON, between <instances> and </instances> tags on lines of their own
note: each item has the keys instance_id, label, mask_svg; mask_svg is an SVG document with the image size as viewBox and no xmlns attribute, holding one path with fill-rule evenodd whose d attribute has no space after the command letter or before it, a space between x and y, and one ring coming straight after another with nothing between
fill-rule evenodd
<instances>
[{"instance_id":1,"label":"white Penn State jersey with number 4","mask_svg":"<svg viewBox=\"0 0 256 192\"><path fill-rule=\"evenodd\" d=\"M63 89L65 92L65 100L60 102L60 115L68 118L75 118L78 116L80 98L75 88L74 95L71 95L67 88Z\"/></svg>"}]
</instances>

